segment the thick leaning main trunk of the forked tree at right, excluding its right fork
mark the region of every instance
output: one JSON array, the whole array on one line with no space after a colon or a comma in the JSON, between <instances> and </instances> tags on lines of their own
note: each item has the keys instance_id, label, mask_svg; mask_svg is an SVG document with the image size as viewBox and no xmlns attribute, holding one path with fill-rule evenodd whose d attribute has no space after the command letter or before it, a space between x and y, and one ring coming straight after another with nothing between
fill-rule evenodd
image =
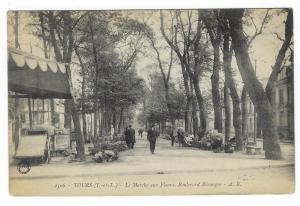
<instances>
[{"instance_id":1,"label":"thick leaning main trunk of the forked tree at right, excluding its right fork","mask_svg":"<svg viewBox=\"0 0 300 206\"><path fill-rule=\"evenodd\" d=\"M250 99L257 108L263 120L262 131L265 138L266 159L281 159L281 149L277 133L276 121L273 118L272 105L262 84L257 79L248 54L246 37L244 35L242 17L243 9L227 10L230 33L237 65L245 83Z\"/></svg>"}]
</instances>

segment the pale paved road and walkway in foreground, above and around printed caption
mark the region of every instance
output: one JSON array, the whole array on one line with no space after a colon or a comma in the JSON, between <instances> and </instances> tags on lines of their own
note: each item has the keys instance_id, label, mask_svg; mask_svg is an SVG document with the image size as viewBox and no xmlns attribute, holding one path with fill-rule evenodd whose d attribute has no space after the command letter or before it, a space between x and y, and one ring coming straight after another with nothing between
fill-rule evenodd
<instances>
[{"instance_id":1,"label":"pale paved road and walkway in foreground, above and around printed caption","mask_svg":"<svg viewBox=\"0 0 300 206\"><path fill-rule=\"evenodd\" d=\"M11 191L13 194L211 194L216 192L245 194L286 193L294 189L293 147L284 146L285 159L281 161L265 160L263 155L247 156L243 153L213 153L193 148L171 147L170 141L158 139L156 153L152 155L146 136L137 137L133 150L120 153L116 162L98 164L67 163L62 158L54 158L50 164L34 166L21 175L15 166L10 167ZM65 163L65 164L64 164ZM274 181L276 180L276 181ZM116 188L82 188L75 183L106 182L120 183ZM186 184L190 186L161 186L168 184ZM204 184L199 187L193 184ZM239 183L238 183L239 182ZM59 184L64 188L56 188ZM136 183L126 190L126 184ZM160 186L149 188L145 185L155 183ZM241 187L230 184L242 184ZM263 184L262 184L263 183ZM138 186L138 184L141 184ZM144 184L144 186L143 186ZM205 184L208 186L206 187ZM215 184L215 186L213 186ZM222 184L217 185L216 184ZM66 186L67 185L67 186ZM189 185L189 184L187 184ZM259 185L259 186L258 186ZM94 185L95 186L95 185ZM23 188L20 191L18 188ZM217 190L216 187L218 188ZM43 188L43 189L41 189ZM127 191L129 193L124 193Z\"/></svg>"}]
</instances>

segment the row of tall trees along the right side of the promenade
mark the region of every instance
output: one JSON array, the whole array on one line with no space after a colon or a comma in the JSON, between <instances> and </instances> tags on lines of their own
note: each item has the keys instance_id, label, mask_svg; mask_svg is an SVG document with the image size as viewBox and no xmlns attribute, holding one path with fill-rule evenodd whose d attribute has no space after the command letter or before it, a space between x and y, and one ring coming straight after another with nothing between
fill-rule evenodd
<instances>
[{"instance_id":1,"label":"row of tall trees along the right side of the promenade","mask_svg":"<svg viewBox=\"0 0 300 206\"><path fill-rule=\"evenodd\" d=\"M276 129L276 117L272 107L272 95L277 76L283 66L286 54L289 53L293 36L293 17L292 10L281 10L280 15L285 15L285 36L280 38L282 45L276 61L272 68L266 88L264 88L255 74L252 65L249 48L257 36L263 33L263 29L270 21L272 15L270 10L266 10L262 16L260 24L254 20L253 11L244 9L233 10L174 10L160 11L160 32L148 30L145 27L145 34L149 44L154 51L154 57L157 61L157 67L160 73L160 85L163 86L164 110L156 107L156 111L151 111L153 104L148 104L144 109L149 121L169 121L174 125L175 119L184 116L185 131L204 134L208 130L209 105L204 100L201 87L202 79L211 74L211 97L214 113L214 129L225 133L225 141L230 138L231 118L235 129L235 138L237 150L242 150L244 146L245 134L243 131L243 113L241 104L241 95L235 82L235 72L232 68L232 58L235 57L238 71L241 75L244 89L243 96L249 94L254 104L260 120L260 128L264 139L264 149L267 159L280 159L281 150L279 145L278 133ZM145 23L146 24L146 23ZM252 36L246 35L244 26L250 24L254 28ZM160 40L157 37L161 35L169 46L169 62L162 60L162 51L165 48L159 48ZM292 50L292 49L291 49ZM174 55L174 54L175 55ZM174 57L174 56L176 57ZM180 108L178 115L173 111L177 108L172 101L170 93L172 81L170 71L174 65L174 59L179 61L183 79L183 91L185 99L182 101L185 108ZM220 74L223 72L224 86L220 90ZM159 88L161 89L161 88ZM152 91L152 90L151 90ZM222 92L223 95L221 94ZM157 92L152 91L151 98L157 98ZM223 99L223 100L222 100ZM231 99L231 101L230 101ZM230 105L232 102L232 106ZM163 107L163 106L161 106ZM222 108L224 107L225 127L223 128ZM232 108L232 111L231 111ZM148 110L148 111L147 111ZM159 111L165 113L158 113ZM163 115L163 116L161 116ZM200 122L198 122L199 115ZM156 118L154 118L156 117ZM191 127L191 124L193 125ZM200 131L199 131L200 130Z\"/></svg>"}]
</instances>

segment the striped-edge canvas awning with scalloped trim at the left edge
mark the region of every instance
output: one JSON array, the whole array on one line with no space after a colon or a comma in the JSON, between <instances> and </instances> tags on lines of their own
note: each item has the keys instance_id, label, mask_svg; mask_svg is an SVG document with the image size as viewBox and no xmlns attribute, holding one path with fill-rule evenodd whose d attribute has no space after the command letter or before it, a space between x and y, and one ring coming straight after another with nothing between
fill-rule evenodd
<instances>
[{"instance_id":1,"label":"striped-edge canvas awning with scalloped trim at the left edge","mask_svg":"<svg viewBox=\"0 0 300 206\"><path fill-rule=\"evenodd\" d=\"M32 98L71 98L65 65L8 48L8 89Z\"/></svg>"}]
</instances>

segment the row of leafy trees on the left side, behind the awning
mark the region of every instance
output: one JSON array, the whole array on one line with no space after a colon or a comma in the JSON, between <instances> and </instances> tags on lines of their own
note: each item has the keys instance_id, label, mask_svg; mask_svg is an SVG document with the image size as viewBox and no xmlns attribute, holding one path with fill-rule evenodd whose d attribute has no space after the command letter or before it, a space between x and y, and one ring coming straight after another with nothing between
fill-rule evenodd
<instances>
[{"instance_id":1,"label":"row of leafy trees on the left side, behind the awning","mask_svg":"<svg viewBox=\"0 0 300 206\"><path fill-rule=\"evenodd\" d=\"M112 128L115 133L121 132L142 99L144 80L138 77L135 69L142 47L141 28L136 20L121 12L39 11L31 12L27 18L30 19L27 26L42 42L44 57L66 65L73 98L64 102L64 127L73 126L77 152L84 160L86 114L93 114L93 140L97 140L110 135ZM15 19L15 28L18 28L17 13ZM74 78L74 64L81 68L77 74L81 77L79 96L75 96L71 79ZM17 107L15 105L15 109ZM52 122L54 124L54 120Z\"/></svg>"}]
</instances>

